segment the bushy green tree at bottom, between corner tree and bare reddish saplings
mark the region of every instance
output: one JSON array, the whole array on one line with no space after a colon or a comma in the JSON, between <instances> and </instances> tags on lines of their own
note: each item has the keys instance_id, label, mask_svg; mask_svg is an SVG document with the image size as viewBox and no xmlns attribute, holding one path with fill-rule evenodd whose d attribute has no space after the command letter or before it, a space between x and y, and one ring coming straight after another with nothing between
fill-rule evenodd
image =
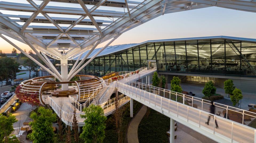
<instances>
[{"instance_id":1,"label":"bushy green tree at bottom, between corner tree and bare reddish saplings","mask_svg":"<svg viewBox=\"0 0 256 143\"><path fill-rule=\"evenodd\" d=\"M28 135L29 139L34 143L54 142L55 134L52 124L57 121L56 113L44 107L39 107L37 112L39 115L36 112L32 112L30 115L33 121L29 123L32 129L32 133Z\"/></svg>"}]
</instances>

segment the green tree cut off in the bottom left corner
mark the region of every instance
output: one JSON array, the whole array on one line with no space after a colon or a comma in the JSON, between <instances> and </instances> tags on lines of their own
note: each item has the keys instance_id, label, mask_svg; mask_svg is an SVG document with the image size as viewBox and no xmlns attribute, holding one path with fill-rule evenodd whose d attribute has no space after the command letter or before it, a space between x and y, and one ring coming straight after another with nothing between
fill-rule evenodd
<instances>
[{"instance_id":1,"label":"green tree cut off in the bottom left corner","mask_svg":"<svg viewBox=\"0 0 256 143\"><path fill-rule=\"evenodd\" d=\"M0 143L9 142L9 143L18 143L19 140L14 135L11 135L11 132L14 131L13 123L18 120L11 113L8 116L4 116L0 113Z\"/></svg>"}]
</instances>

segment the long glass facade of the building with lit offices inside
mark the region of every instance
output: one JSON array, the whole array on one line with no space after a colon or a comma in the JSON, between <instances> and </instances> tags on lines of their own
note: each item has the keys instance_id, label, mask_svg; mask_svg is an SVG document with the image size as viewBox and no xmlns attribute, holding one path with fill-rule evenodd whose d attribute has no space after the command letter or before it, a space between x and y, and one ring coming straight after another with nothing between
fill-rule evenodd
<instances>
[{"instance_id":1,"label":"long glass facade of the building with lit offices inside","mask_svg":"<svg viewBox=\"0 0 256 143\"><path fill-rule=\"evenodd\" d=\"M156 66L159 72L256 77L256 40L222 37L147 41L98 56L82 73L103 76Z\"/></svg>"}]
</instances>

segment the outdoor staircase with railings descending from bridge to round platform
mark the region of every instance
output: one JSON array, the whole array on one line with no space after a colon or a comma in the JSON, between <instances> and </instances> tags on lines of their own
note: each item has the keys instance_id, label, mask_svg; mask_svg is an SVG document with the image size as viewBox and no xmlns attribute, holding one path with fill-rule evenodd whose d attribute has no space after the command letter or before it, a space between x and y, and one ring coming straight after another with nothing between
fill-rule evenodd
<instances>
[{"instance_id":1,"label":"outdoor staircase with railings descending from bridge to round platform","mask_svg":"<svg viewBox=\"0 0 256 143\"><path fill-rule=\"evenodd\" d=\"M107 102L109 100L110 96L115 92L115 86L114 84L111 84L109 86L105 86L97 95L96 98L94 98L93 102L91 104L93 105L101 105L104 106L103 103ZM91 105L90 104L90 105Z\"/></svg>"}]
</instances>

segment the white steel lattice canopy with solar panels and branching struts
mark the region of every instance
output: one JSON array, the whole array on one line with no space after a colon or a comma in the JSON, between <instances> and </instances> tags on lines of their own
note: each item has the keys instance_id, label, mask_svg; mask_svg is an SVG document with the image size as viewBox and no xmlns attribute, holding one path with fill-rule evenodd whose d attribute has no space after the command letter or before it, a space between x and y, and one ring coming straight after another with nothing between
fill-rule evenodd
<instances>
[{"instance_id":1,"label":"white steel lattice canopy with solar panels and branching struts","mask_svg":"<svg viewBox=\"0 0 256 143\"><path fill-rule=\"evenodd\" d=\"M245 0L20 0L0 1L0 37L29 45L60 81L69 81L98 44L112 39L93 60L122 33L160 15L210 6L256 12L256 2ZM56 6L58 5L58 6ZM90 50L83 58L82 53ZM39 54L42 52L42 55ZM61 60L61 74L47 56ZM67 60L78 57L70 73ZM30 57L32 58L32 57ZM33 59L33 58L32 58ZM35 60L35 59L33 59ZM65 71L64 71L65 70Z\"/></svg>"}]
</instances>

